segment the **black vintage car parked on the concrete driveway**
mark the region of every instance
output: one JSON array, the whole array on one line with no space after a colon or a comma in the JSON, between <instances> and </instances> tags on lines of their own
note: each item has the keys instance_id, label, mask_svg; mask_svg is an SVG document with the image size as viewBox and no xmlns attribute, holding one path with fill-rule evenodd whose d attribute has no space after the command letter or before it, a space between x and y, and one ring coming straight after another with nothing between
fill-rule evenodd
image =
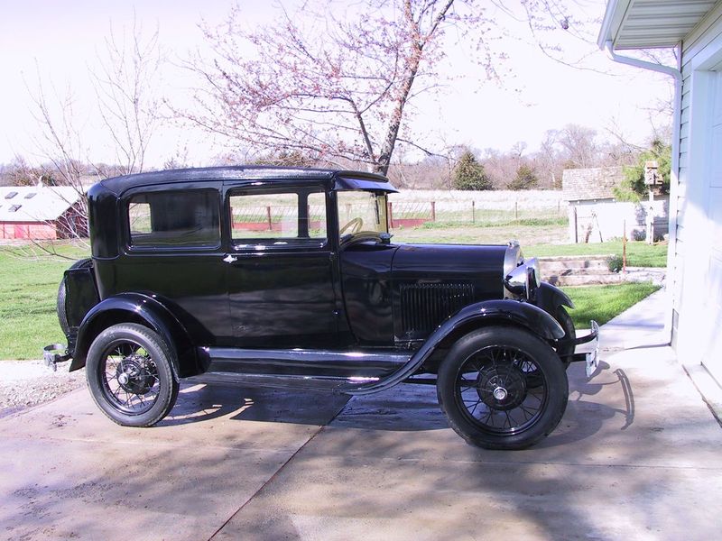
<instances>
[{"instance_id":1,"label":"black vintage car parked on the concrete driveway","mask_svg":"<svg viewBox=\"0 0 722 541\"><path fill-rule=\"evenodd\" d=\"M181 381L364 395L431 383L468 443L518 449L567 405L569 297L517 243L396 244L388 179L231 167L106 179L92 259L60 284L70 371L97 406L151 426Z\"/></svg>"}]
</instances>

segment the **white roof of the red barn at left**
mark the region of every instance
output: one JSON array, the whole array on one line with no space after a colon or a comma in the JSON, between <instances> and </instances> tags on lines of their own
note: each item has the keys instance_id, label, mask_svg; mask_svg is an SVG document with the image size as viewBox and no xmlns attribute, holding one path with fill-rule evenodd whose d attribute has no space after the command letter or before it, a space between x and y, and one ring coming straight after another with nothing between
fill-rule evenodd
<instances>
[{"instance_id":1,"label":"white roof of the red barn at left","mask_svg":"<svg viewBox=\"0 0 722 541\"><path fill-rule=\"evenodd\" d=\"M0 222L56 220L79 199L76 189L69 186L2 186Z\"/></svg>"}]
</instances>

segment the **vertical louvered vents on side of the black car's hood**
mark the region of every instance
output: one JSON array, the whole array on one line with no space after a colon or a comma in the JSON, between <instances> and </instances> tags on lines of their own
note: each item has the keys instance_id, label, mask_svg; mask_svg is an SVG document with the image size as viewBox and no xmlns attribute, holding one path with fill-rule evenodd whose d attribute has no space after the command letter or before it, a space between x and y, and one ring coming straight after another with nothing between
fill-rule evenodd
<instances>
[{"instance_id":1,"label":"vertical louvered vents on side of the black car's hood","mask_svg":"<svg viewBox=\"0 0 722 541\"><path fill-rule=\"evenodd\" d=\"M402 284L403 334L428 334L473 299L471 284Z\"/></svg>"}]
</instances>

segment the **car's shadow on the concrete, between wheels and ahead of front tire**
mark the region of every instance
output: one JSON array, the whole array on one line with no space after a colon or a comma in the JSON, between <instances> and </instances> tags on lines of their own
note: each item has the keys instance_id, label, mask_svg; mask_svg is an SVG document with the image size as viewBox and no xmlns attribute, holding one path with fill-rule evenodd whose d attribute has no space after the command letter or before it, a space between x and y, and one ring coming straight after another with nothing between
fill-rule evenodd
<instances>
[{"instance_id":1,"label":"car's shadow on the concrete, between wheels and ahead of front tire","mask_svg":"<svg viewBox=\"0 0 722 541\"><path fill-rule=\"evenodd\" d=\"M611 377L610 377L611 376ZM614 408L605 399L594 400L603 390L621 390L625 408ZM606 395L608 396L608 395ZM618 404L619 401L615 400ZM613 417L624 419L621 430L634 422L634 394L624 371L610 371L601 362L590 381L579 364L569 368L569 404L560 425L541 445L566 445L596 434ZM402 384L373 395L346 395L307 390L245 389L186 385L171 415L161 425L183 425L218 417L232 420L346 426L370 430L424 431L449 428L432 385Z\"/></svg>"}]
</instances>

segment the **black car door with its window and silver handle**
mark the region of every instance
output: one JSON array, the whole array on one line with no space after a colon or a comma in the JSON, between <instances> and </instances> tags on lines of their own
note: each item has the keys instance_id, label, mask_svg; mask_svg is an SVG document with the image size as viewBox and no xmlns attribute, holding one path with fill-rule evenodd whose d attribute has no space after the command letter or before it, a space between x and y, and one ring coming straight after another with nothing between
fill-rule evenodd
<instances>
[{"instance_id":1,"label":"black car door with its window and silver handle","mask_svg":"<svg viewBox=\"0 0 722 541\"><path fill-rule=\"evenodd\" d=\"M238 347L338 344L338 261L322 186L227 187L228 299Z\"/></svg>"}]
</instances>

